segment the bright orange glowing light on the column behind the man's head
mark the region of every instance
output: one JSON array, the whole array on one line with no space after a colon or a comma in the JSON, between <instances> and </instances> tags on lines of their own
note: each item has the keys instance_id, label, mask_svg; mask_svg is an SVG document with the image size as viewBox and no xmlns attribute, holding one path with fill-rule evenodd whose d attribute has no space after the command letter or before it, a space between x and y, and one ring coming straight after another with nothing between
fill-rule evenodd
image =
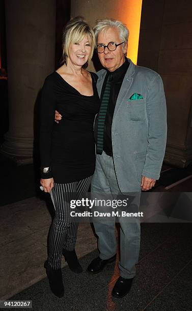
<instances>
[{"instance_id":1,"label":"bright orange glowing light on the column behind the man's head","mask_svg":"<svg viewBox=\"0 0 192 311\"><path fill-rule=\"evenodd\" d=\"M142 0L124 0L121 2L117 13L119 19L129 29L127 56L135 65L138 60L141 12Z\"/></svg>"}]
</instances>

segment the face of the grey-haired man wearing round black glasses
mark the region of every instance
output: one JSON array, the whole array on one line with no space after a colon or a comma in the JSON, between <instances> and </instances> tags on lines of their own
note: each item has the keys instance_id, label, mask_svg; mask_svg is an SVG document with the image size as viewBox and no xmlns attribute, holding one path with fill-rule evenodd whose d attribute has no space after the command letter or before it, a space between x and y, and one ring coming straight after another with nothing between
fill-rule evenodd
<instances>
[{"instance_id":1,"label":"face of the grey-haired man wearing round black glasses","mask_svg":"<svg viewBox=\"0 0 192 311\"><path fill-rule=\"evenodd\" d=\"M119 44L122 40L119 37L119 30L117 28L108 28L106 31L98 33L97 44L107 45L109 42ZM125 53L127 52L127 44L119 45L115 51L109 51L105 48L103 53L98 53L101 65L113 72L125 61Z\"/></svg>"}]
</instances>

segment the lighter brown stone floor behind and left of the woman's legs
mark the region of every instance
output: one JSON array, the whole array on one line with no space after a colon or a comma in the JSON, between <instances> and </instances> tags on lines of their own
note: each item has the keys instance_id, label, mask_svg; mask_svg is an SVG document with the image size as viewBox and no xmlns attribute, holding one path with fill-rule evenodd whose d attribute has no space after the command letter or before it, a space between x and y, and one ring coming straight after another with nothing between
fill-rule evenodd
<instances>
[{"instance_id":1,"label":"lighter brown stone floor behind and left of the woman's legs","mask_svg":"<svg viewBox=\"0 0 192 311\"><path fill-rule=\"evenodd\" d=\"M45 201L30 198L0 207L0 300L8 299L46 276L47 234L51 215ZM80 224L78 257L97 247L89 223ZM63 260L62 265L66 263Z\"/></svg>"}]
</instances>

